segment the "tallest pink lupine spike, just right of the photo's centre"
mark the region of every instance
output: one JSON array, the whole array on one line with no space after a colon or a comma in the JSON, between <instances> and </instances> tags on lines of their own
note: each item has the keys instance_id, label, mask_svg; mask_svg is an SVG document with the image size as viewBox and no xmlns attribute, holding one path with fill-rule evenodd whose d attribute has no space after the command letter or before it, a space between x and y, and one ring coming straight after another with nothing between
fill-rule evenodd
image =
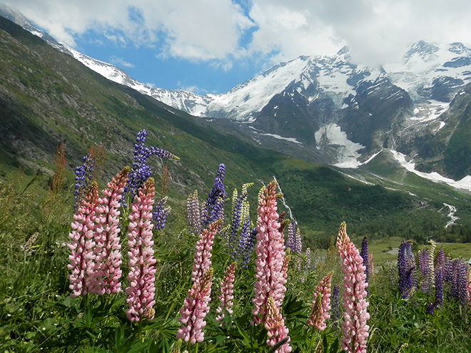
<instances>
[{"instance_id":1,"label":"tallest pink lupine spike, just right of the photo's centre","mask_svg":"<svg viewBox=\"0 0 471 353\"><path fill-rule=\"evenodd\" d=\"M258 196L257 242L255 244L255 297L252 302L253 323L266 322L268 297L280 308L285 296L286 279L283 275L285 245L279 232L280 223L276 213L276 183L272 181L262 188Z\"/></svg>"}]
</instances>

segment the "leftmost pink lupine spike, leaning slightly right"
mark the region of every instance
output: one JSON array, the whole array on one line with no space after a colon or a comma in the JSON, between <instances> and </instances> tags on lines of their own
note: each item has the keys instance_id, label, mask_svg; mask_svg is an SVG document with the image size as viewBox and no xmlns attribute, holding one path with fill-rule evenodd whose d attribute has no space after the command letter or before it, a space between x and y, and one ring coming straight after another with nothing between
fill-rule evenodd
<instances>
[{"instance_id":1,"label":"leftmost pink lupine spike, leaning slightly right","mask_svg":"<svg viewBox=\"0 0 471 353\"><path fill-rule=\"evenodd\" d=\"M93 266L93 260L95 259L93 253L93 247L95 246L93 241L95 230L93 215L95 215L94 209L97 198L98 185L93 182L74 215L74 221L71 223L72 230L69 233L71 242L67 245L71 250L71 255L69 255L70 263L67 265L67 268L71 270L71 274L69 274L71 297L86 295L88 292L86 286L87 269Z\"/></svg>"}]
</instances>

